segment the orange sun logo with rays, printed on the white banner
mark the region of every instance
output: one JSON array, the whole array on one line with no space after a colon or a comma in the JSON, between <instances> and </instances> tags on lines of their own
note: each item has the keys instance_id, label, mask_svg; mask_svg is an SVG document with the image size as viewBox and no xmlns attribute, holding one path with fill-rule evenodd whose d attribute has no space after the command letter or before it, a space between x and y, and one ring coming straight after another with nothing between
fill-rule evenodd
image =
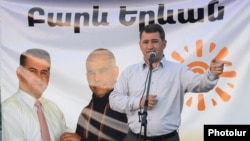
<instances>
[{"instance_id":1,"label":"orange sun logo with rays, printed on the white banner","mask_svg":"<svg viewBox=\"0 0 250 141\"><path fill-rule=\"evenodd\" d=\"M210 43L209 53L212 53L215 48L216 48L216 44L213 42ZM184 51L187 53L189 52L188 46L184 46ZM227 55L228 55L228 49L227 49L227 47L223 47L219 51L219 53L216 55L215 58L216 58L216 60L223 60ZM173 51L171 56L173 59L177 60L178 62L185 63L185 59L178 52ZM196 56L198 58L203 57L202 40L197 40L197 42L196 42ZM188 64L188 63L186 63L186 64ZM209 64L207 64L206 62L202 62L202 61L193 61L193 62L190 62L187 66L190 67L193 72L200 73L200 74L205 73L205 71L207 69L209 69ZM235 71L224 71L220 77L221 78L236 77L236 72ZM234 84L230 83L230 82L227 83L227 86L231 89L234 88ZM220 88L219 86L216 86L214 88L214 91L219 96L219 98L224 102L228 102L231 99L231 95L229 93L227 93L225 90L223 90L222 88ZM197 99L198 99L197 108L198 108L198 110L204 111L206 109L206 102L205 102L205 95L203 93L199 93L198 95L192 95L190 98L187 99L185 104L188 107L191 107L191 105L193 103L193 96L197 96ZM212 102L213 106L217 105L217 101L215 98L211 98L211 102Z\"/></svg>"}]
</instances>

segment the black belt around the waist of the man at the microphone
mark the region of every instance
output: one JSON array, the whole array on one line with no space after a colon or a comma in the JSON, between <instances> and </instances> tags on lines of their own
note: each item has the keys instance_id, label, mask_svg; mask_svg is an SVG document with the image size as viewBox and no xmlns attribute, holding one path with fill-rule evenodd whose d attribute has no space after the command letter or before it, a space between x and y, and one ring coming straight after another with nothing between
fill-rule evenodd
<instances>
[{"instance_id":1,"label":"black belt around the waist of the man at the microphone","mask_svg":"<svg viewBox=\"0 0 250 141\"><path fill-rule=\"evenodd\" d=\"M142 137L142 139L144 138L144 135L141 135L141 134L136 134L134 132L132 132L130 129L129 129L129 132L136 138L140 138ZM160 135L160 136L152 136L152 137L146 137L146 140L164 140L164 139L168 139L168 138L171 138L175 135L177 135L177 131L173 131L171 133L168 133L168 134L165 134L165 135Z\"/></svg>"}]
</instances>

